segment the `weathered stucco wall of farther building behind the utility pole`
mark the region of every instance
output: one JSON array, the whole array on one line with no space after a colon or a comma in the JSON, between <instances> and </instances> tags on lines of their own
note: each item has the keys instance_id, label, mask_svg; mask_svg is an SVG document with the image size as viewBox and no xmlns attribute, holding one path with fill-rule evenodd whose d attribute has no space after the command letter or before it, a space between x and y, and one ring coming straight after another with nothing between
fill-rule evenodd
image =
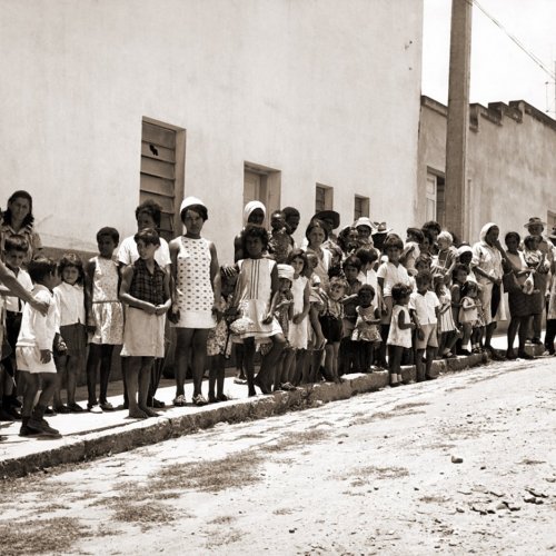
<instances>
[{"instance_id":1,"label":"weathered stucco wall of farther building behind the utility pole","mask_svg":"<svg viewBox=\"0 0 556 556\"><path fill-rule=\"evenodd\" d=\"M526 234L533 216L546 220L556 212L556 122L519 102L520 121L507 115L497 118L485 107L473 106L476 122L469 130L467 175L470 180L466 218L468 237L478 240L480 228L494 221L502 236ZM445 172L445 107L425 99L419 133L419 197L425 198L427 167ZM519 115L515 115L518 117ZM446 183L449 195L449 183ZM424 221L424 205L420 220Z\"/></svg>"}]
</instances>

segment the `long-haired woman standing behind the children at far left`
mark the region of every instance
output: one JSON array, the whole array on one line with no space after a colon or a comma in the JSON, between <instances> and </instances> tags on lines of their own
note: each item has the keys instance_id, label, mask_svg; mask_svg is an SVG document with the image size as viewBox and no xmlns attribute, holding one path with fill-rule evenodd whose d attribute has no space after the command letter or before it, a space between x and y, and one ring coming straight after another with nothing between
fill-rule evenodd
<instances>
[{"instance_id":1,"label":"long-haired woman standing behind the children at far left","mask_svg":"<svg viewBox=\"0 0 556 556\"><path fill-rule=\"evenodd\" d=\"M3 222L0 227L1 252L3 254L3 242L7 237L23 236L29 244L26 262L29 262L33 255L42 249L40 236L34 231L34 217L32 214L32 197L23 190L13 192L8 199L8 209L2 214Z\"/></svg>"}]
</instances>

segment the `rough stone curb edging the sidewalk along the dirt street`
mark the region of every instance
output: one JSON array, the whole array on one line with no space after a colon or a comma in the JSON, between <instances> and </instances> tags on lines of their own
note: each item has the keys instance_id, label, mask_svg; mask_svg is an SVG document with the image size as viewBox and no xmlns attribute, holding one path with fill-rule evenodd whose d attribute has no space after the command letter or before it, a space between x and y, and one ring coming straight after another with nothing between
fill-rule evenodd
<instances>
[{"instance_id":1,"label":"rough stone curb edging the sidewalk along the dirt street","mask_svg":"<svg viewBox=\"0 0 556 556\"><path fill-rule=\"evenodd\" d=\"M457 373L488 363L486 355L471 355L433 364L435 376ZM415 366L404 367L405 380L415 380ZM368 375L349 375L341 384L310 385L288 393L230 400L218 407L206 406L193 414L178 417L159 417L130 423L113 430L93 431L83 438L71 438L70 444L44 449L19 458L0 461L0 477L22 477L62 464L87 461L102 456L129 451L133 448L157 444L169 438L211 428L218 423L242 423L262 419L290 410L307 409L319 404L348 399L358 394L376 391L388 385L388 373L380 370Z\"/></svg>"}]
</instances>

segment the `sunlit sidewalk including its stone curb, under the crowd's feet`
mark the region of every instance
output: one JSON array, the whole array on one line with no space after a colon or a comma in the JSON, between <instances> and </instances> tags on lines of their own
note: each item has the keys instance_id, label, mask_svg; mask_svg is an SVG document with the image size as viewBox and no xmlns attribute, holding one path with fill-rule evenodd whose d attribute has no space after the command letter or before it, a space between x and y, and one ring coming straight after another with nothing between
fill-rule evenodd
<instances>
[{"instance_id":1,"label":"sunlit sidewalk including its stone curb, under the crowd's feet","mask_svg":"<svg viewBox=\"0 0 556 556\"><path fill-rule=\"evenodd\" d=\"M505 339L496 338L498 349L505 348ZM529 346L527 349L533 349ZM535 355L539 355L538 350ZM436 375L464 370L488 363L485 355L471 355L456 359L439 360L434 364ZM196 407L191 404L192 386L186 384L186 407L173 407L175 396L172 380L162 379L157 398L167 404L165 409L157 410L160 417L149 419L129 419L127 410L102 414L69 414L48 418L52 427L60 430L61 438L21 438L21 421L2 423L0 434L6 440L0 443L0 477L23 476L61 464L77 463L101 456L127 451L139 446L159 443L172 437L210 428L218 423L239 423L259 419L287 410L316 407L322 403L347 399L363 393L375 391L388 386L387 371L366 375L347 375L342 384L321 383L306 386L295 391L277 393L268 396L247 397L247 386L226 378L225 394L228 401ZM415 379L415 367L405 367L404 377ZM410 387L410 386L409 386ZM207 385L203 384L203 390ZM121 383L112 383L109 389L109 401L119 406L123 401L120 394ZM87 389L78 389L78 403L86 407Z\"/></svg>"}]
</instances>

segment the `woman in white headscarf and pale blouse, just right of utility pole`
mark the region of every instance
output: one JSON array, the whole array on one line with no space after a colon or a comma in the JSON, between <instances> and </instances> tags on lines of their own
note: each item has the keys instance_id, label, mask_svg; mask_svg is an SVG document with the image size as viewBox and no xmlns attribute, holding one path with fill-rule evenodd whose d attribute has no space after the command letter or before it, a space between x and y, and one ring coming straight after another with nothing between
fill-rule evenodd
<instances>
[{"instance_id":1,"label":"woman in white headscarf and pale blouse, just right of utility pole","mask_svg":"<svg viewBox=\"0 0 556 556\"><path fill-rule=\"evenodd\" d=\"M485 349L495 360L503 359L490 346L493 334L498 320L506 320L504 304L502 302L502 277L504 269L502 259L506 254L498 241L500 229L494 222L488 222L480 230L480 241L473 246L471 268L480 285L479 299L485 318Z\"/></svg>"}]
</instances>

